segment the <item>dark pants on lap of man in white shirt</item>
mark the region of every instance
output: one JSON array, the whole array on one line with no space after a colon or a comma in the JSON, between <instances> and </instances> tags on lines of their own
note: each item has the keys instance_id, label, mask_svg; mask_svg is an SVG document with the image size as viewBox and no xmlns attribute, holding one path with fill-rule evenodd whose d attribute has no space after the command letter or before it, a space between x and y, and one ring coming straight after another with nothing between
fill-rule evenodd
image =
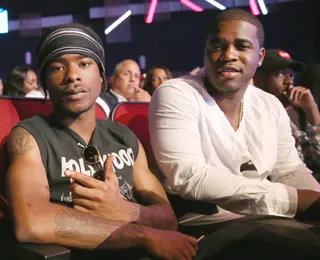
<instances>
[{"instance_id":1,"label":"dark pants on lap of man in white shirt","mask_svg":"<svg viewBox=\"0 0 320 260\"><path fill-rule=\"evenodd\" d=\"M180 229L195 237L205 235L196 260L320 259L320 222L244 217Z\"/></svg>"}]
</instances>

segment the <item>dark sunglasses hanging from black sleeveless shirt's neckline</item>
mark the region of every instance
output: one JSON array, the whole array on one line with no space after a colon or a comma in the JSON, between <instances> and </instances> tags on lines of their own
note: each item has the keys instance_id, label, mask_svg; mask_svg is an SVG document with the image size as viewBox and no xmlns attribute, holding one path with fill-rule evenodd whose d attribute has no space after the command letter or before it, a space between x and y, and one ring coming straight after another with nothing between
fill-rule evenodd
<instances>
[{"instance_id":1,"label":"dark sunglasses hanging from black sleeveless shirt's neckline","mask_svg":"<svg viewBox=\"0 0 320 260\"><path fill-rule=\"evenodd\" d=\"M103 165L100 161L101 156L98 148L93 145L88 145L83 149L81 155L84 161L94 169L93 178L105 181Z\"/></svg>"}]
</instances>

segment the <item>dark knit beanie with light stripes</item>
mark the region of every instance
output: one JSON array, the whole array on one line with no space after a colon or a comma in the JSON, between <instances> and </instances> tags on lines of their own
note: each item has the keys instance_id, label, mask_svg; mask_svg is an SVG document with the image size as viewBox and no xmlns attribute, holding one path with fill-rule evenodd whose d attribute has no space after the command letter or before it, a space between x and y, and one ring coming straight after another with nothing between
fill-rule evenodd
<instances>
[{"instance_id":1,"label":"dark knit beanie with light stripes","mask_svg":"<svg viewBox=\"0 0 320 260\"><path fill-rule=\"evenodd\" d=\"M93 59L100 73L105 72L104 49L100 37L82 24L63 24L50 28L40 39L37 48L40 80L45 85L47 66L65 54L80 54Z\"/></svg>"}]
</instances>

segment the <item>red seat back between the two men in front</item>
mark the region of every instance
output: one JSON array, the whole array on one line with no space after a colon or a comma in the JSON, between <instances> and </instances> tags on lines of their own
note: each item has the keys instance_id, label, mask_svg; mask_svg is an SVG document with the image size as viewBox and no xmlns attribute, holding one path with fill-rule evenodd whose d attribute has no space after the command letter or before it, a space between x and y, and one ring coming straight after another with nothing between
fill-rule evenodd
<instances>
[{"instance_id":1,"label":"red seat back between the two men in front","mask_svg":"<svg viewBox=\"0 0 320 260\"><path fill-rule=\"evenodd\" d=\"M127 126L141 142L148 160L149 169L163 183L164 177L159 170L150 143L147 102L121 102L116 105L110 119Z\"/></svg>"}]
</instances>

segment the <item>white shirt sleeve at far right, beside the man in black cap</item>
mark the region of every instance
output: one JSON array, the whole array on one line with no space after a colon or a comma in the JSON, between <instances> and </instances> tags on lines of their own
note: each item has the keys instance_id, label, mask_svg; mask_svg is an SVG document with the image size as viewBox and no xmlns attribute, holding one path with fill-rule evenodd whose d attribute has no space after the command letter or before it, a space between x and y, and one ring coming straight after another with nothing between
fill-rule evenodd
<instances>
[{"instance_id":1,"label":"white shirt sleeve at far right, beside the man in black cap","mask_svg":"<svg viewBox=\"0 0 320 260\"><path fill-rule=\"evenodd\" d=\"M319 183L299 158L287 111L278 100L275 106L277 107L279 126L278 154L276 165L271 172L271 181L280 182L296 189L320 191Z\"/></svg>"}]
</instances>

